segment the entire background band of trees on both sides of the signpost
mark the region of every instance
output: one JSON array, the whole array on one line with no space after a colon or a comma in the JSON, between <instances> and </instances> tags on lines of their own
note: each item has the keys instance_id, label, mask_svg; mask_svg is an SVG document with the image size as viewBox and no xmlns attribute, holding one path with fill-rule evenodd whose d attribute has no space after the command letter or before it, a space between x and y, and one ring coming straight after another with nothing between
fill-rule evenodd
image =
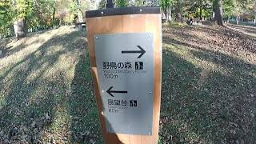
<instances>
[{"instance_id":1,"label":"entire background band of trees on both sides of the signpost","mask_svg":"<svg viewBox=\"0 0 256 144\"><path fill-rule=\"evenodd\" d=\"M113 0L115 7L161 6L168 21L183 22L184 18L223 20L235 23L254 21L255 0ZM85 11L94 6L106 7L106 0L2 0L0 2L0 38L25 37L27 33L54 26L83 22Z\"/></svg>"}]
</instances>

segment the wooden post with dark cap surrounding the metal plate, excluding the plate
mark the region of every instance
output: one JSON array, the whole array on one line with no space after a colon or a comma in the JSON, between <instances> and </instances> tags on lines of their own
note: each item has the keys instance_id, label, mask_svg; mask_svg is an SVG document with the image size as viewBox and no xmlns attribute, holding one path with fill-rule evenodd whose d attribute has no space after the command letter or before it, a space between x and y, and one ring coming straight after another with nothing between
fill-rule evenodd
<instances>
[{"instance_id":1,"label":"wooden post with dark cap surrounding the metal plate, excluding the plate","mask_svg":"<svg viewBox=\"0 0 256 144\"><path fill-rule=\"evenodd\" d=\"M94 92L98 105L98 114L102 126L102 135L106 144L156 144L160 117L162 82L162 22L159 7L126 7L106 10L86 11L87 38L90 46L90 66L93 74ZM154 34L154 106L153 126L150 135L114 134L106 130L106 118L103 114L101 92L99 90L98 67L94 50L96 34ZM102 47L104 49L104 47Z\"/></svg>"}]
</instances>

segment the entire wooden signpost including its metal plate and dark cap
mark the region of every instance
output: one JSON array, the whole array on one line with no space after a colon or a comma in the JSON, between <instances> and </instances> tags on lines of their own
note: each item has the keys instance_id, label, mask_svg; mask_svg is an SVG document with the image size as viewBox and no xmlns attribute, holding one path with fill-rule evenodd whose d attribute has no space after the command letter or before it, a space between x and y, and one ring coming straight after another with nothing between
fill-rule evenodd
<instances>
[{"instance_id":1,"label":"entire wooden signpost including its metal plate and dark cap","mask_svg":"<svg viewBox=\"0 0 256 144\"><path fill-rule=\"evenodd\" d=\"M162 74L160 8L90 10L86 26L104 142L156 144Z\"/></svg>"}]
</instances>

